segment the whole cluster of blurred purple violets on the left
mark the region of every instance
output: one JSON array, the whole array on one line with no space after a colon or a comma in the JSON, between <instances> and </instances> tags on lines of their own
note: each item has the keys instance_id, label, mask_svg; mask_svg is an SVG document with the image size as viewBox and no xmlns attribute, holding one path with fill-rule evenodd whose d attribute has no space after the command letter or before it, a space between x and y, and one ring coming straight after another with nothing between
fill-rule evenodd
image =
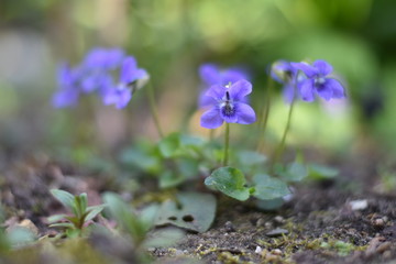
<instances>
[{"instance_id":1,"label":"whole cluster of blurred purple violets on the left","mask_svg":"<svg viewBox=\"0 0 396 264\"><path fill-rule=\"evenodd\" d=\"M58 68L58 90L53 106L74 107L81 94L97 92L105 105L122 109L148 78L146 70L138 67L135 58L127 56L122 50L96 47L79 65Z\"/></svg>"}]
</instances>

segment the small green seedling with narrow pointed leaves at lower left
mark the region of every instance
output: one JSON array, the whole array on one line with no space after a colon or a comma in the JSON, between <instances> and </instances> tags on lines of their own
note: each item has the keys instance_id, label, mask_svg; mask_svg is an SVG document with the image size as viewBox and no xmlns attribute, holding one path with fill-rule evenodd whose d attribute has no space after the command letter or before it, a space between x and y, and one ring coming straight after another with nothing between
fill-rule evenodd
<instances>
[{"instance_id":1,"label":"small green seedling with narrow pointed leaves at lower left","mask_svg":"<svg viewBox=\"0 0 396 264\"><path fill-rule=\"evenodd\" d=\"M89 221L98 216L105 205L88 207L87 194L74 196L65 190L52 189L51 194L73 215L55 215L48 218L51 228L64 228L67 237L82 235Z\"/></svg>"}]
</instances>

